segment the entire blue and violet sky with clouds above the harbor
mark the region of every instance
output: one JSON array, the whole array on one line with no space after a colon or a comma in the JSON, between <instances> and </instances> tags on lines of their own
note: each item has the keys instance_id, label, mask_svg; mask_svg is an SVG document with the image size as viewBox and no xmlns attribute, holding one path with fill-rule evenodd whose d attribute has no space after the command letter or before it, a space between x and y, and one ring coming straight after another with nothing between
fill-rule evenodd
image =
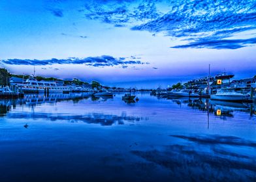
<instances>
[{"instance_id":1,"label":"entire blue and violet sky with clouds above the harbor","mask_svg":"<svg viewBox=\"0 0 256 182\"><path fill-rule=\"evenodd\" d=\"M112 86L256 75L256 1L0 0L0 66Z\"/></svg>"}]
</instances>

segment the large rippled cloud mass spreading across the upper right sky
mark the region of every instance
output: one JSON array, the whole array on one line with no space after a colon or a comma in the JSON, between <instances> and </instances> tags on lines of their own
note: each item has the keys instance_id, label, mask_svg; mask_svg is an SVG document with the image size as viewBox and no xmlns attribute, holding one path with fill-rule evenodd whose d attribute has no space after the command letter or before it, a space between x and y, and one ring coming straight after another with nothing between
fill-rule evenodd
<instances>
[{"instance_id":1,"label":"large rippled cloud mass spreading across the upper right sky","mask_svg":"<svg viewBox=\"0 0 256 182\"><path fill-rule=\"evenodd\" d=\"M115 27L129 27L133 31L149 31L154 36L158 32L165 32L171 38L189 40L187 47L238 49L255 44L254 41L237 41L234 38L238 32L256 30L254 0L112 0L89 1L85 4L81 12L88 19L110 23ZM225 38L234 41L227 44ZM212 42L216 42L217 46ZM172 47L186 48L185 45Z\"/></svg>"}]
</instances>

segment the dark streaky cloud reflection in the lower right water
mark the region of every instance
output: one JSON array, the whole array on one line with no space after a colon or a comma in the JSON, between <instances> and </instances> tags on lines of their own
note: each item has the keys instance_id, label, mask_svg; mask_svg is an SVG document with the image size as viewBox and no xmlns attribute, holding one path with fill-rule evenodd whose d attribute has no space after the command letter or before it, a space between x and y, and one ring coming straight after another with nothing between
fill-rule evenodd
<instances>
[{"instance_id":1,"label":"dark streaky cloud reflection in the lower right water","mask_svg":"<svg viewBox=\"0 0 256 182\"><path fill-rule=\"evenodd\" d=\"M255 181L254 154L242 154L243 149L255 149L256 143L234 136L171 135L189 142L131 153L170 170L175 181ZM192 143L191 143L192 142ZM232 151L227 146L232 146ZM239 146L238 149L235 147Z\"/></svg>"}]
</instances>

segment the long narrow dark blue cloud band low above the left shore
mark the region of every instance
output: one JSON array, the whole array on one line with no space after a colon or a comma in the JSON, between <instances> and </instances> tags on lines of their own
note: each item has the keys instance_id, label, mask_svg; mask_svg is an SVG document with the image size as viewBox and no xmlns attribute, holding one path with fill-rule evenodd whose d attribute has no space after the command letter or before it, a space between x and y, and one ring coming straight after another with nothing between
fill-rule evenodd
<instances>
[{"instance_id":1,"label":"long narrow dark blue cloud band low above the left shore","mask_svg":"<svg viewBox=\"0 0 256 182\"><path fill-rule=\"evenodd\" d=\"M87 57L84 59L79 58L69 58L69 59L48 59L48 60L37 60L37 59L6 59L1 60L4 64L10 65L33 65L33 66L44 66L51 64L85 64L87 66L93 67L106 67L106 66L122 66L122 68L127 68L129 65L135 64L148 64L148 62L142 62L135 57L120 57L114 58L112 56L103 55L101 57Z\"/></svg>"}]
</instances>

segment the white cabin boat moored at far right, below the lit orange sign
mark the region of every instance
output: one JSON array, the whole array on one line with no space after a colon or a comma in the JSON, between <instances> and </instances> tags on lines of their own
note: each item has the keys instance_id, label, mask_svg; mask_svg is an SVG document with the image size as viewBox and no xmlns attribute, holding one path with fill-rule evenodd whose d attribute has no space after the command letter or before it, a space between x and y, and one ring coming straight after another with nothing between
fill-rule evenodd
<instances>
[{"instance_id":1,"label":"white cabin boat moored at far right, below the lit orange sign","mask_svg":"<svg viewBox=\"0 0 256 182\"><path fill-rule=\"evenodd\" d=\"M249 94L236 92L234 88L221 88L217 90L216 94L211 94L210 98L223 101L246 101L249 98Z\"/></svg>"}]
</instances>

